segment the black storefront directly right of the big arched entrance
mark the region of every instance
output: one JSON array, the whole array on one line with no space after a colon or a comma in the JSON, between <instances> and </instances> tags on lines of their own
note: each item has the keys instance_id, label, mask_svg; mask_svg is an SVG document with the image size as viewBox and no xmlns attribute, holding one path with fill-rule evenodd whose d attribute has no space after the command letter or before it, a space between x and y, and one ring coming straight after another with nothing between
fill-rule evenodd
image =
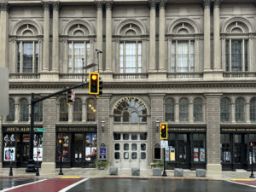
<instances>
[{"instance_id":1,"label":"black storefront directly right of the big arched entrance","mask_svg":"<svg viewBox=\"0 0 256 192\"><path fill-rule=\"evenodd\" d=\"M206 168L206 128L168 128L167 169Z\"/></svg>"}]
</instances>

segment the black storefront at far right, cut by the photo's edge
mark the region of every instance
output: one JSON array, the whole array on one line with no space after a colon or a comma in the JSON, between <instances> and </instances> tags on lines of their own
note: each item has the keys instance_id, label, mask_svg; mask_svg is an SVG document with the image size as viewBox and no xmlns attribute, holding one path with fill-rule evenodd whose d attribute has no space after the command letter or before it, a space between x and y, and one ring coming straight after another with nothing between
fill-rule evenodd
<instances>
[{"instance_id":1,"label":"black storefront at far right, cut by the photo's edge","mask_svg":"<svg viewBox=\"0 0 256 192\"><path fill-rule=\"evenodd\" d=\"M249 143L253 142L253 156ZM221 128L220 134L221 164L223 171L236 169L256 170L256 129Z\"/></svg>"}]
</instances>

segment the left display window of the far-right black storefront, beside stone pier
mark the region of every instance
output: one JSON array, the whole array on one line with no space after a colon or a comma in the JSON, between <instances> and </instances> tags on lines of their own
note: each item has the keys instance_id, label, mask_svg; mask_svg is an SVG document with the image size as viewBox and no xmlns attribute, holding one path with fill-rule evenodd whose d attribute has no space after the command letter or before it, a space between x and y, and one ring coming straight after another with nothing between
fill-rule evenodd
<instances>
[{"instance_id":1,"label":"left display window of the far-right black storefront, beside stone pier","mask_svg":"<svg viewBox=\"0 0 256 192\"><path fill-rule=\"evenodd\" d=\"M230 134L223 133L220 134L220 143L221 143L221 161L224 163L231 162L231 143L230 143Z\"/></svg>"}]
</instances>

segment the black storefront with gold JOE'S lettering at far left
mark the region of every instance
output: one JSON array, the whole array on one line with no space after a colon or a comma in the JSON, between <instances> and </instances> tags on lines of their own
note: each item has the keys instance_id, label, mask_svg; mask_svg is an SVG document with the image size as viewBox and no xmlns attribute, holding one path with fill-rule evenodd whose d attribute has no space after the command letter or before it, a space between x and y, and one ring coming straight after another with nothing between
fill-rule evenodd
<instances>
[{"instance_id":1,"label":"black storefront with gold JOE'S lettering at far left","mask_svg":"<svg viewBox=\"0 0 256 192\"><path fill-rule=\"evenodd\" d=\"M42 126L35 126L42 128ZM29 126L3 126L3 167L26 167L29 160ZM43 160L43 132L33 138L34 160L40 166Z\"/></svg>"}]
</instances>

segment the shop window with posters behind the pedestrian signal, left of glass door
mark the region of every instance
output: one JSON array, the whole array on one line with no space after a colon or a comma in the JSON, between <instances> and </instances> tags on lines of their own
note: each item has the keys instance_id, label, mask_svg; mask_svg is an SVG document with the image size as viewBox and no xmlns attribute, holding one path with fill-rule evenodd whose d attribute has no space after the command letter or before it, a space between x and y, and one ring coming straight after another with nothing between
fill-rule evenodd
<instances>
[{"instance_id":1,"label":"shop window with posters behind the pedestrian signal, left of glass door","mask_svg":"<svg viewBox=\"0 0 256 192\"><path fill-rule=\"evenodd\" d=\"M62 161L68 162L69 161L69 133L58 133L57 134L57 141L62 138L64 140L63 142L63 148L62 148ZM57 155L56 160L61 161L61 144L57 142Z\"/></svg>"}]
</instances>

